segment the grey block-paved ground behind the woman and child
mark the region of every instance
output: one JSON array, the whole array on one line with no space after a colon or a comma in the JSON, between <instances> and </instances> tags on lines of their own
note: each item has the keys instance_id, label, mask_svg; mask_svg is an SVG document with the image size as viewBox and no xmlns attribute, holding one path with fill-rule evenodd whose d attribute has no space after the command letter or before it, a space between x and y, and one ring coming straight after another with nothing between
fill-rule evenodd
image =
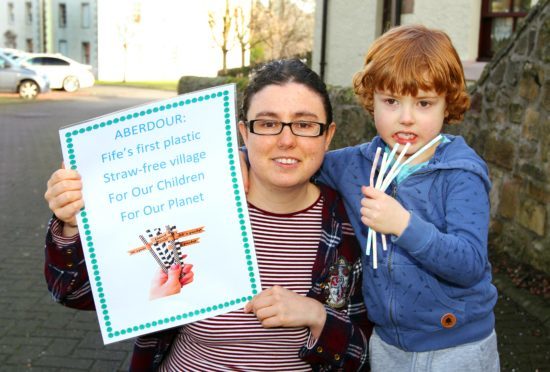
<instances>
[{"instance_id":1,"label":"grey block-paved ground behind the woman and child","mask_svg":"<svg viewBox=\"0 0 550 372\"><path fill-rule=\"evenodd\" d=\"M170 92L98 87L0 103L0 371L126 370L132 343L103 346L94 312L55 304L42 274L45 182L60 164L57 129ZM548 329L501 295L503 371L550 371Z\"/></svg>"}]
</instances>

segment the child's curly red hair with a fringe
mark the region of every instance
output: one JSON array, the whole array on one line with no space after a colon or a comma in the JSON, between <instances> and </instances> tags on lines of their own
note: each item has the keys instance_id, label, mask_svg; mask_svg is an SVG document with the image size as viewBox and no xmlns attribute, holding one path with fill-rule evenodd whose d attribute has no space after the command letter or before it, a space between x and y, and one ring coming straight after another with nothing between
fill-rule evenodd
<instances>
[{"instance_id":1,"label":"child's curly red hair with a fringe","mask_svg":"<svg viewBox=\"0 0 550 372\"><path fill-rule=\"evenodd\" d=\"M464 70L451 39L421 25L390 29L370 47L363 69L353 77L355 94L374 112L375 91L416 96L419 90L445 94L449 124L462 121L470 106Z\"/></svg>"}]
</instances>

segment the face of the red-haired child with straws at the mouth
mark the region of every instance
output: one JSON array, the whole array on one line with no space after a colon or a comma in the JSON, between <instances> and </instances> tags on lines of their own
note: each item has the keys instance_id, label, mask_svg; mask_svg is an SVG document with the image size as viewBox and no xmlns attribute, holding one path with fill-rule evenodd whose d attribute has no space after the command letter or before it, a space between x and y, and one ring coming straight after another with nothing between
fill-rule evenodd
<instances>
[{"instance_id":1,"label":"face of the red-haired child with straws at the mouth","mask_svg":"<svg viewBox=\"0 0 550 372\"><path fill-rule=\"evenodd\" d=\"M390 147L396 143L410 143L406 157L413 155L435 138L443 127L447 104L445 95L419 90L416 96L401 96L386 91L374 93L374 123L384 142ZM432 146L413 161L422 163L430 159L436 146ZM400 153L402 147L398 149Z\"/></svg>"}]
</instances>

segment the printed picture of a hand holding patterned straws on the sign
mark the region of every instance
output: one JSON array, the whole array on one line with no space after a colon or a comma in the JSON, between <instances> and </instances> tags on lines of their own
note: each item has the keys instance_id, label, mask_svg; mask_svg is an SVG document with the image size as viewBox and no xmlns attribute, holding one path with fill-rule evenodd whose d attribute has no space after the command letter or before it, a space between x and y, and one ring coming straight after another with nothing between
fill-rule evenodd
<instances>
[{"instance_id":1,"label":"printed picture of a hand holding patterned straws on the sign","mask_svg":"<svg viewBox=\"0 0 550 372\"><path fill-rule=\"evenodd\" d=\"M182 253L182 248L199 243L200 238L183 241L179 239L204 232L204 226L178 232L176 226L166 225L166 231L164 232L161 232L160 228L155 228L153 231L147 230L146 232L149 240L140 235L139 238L144 245L131 249L128 253L134 255L147 250L160 267L160 271L153 278L149 299L154 300L180 293L181 288L191 283L194 277L193 265L184 263L187 255ZM176 277L171 280L170 274L173 277L173 271L180 269L179 278Z\"/></svg>"}]
</instances>

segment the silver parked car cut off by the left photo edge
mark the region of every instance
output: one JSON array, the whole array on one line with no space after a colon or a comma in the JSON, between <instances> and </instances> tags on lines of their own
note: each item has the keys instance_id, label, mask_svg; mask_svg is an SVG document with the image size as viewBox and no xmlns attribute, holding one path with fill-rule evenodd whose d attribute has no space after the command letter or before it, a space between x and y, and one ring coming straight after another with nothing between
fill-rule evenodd
<instances>
[{"instance_id":1,"label":"silver parked car cut off by the left photo edge","mask_svg":"<svg viewBox=\"0 0 550 372\"><path fill-rule=\"evenodd\" d=\"M39 72L25 68L0 52L0 91L19 93L21 98L33 99L50 91L48 79Z\"/></svg>"}]
</instances>

